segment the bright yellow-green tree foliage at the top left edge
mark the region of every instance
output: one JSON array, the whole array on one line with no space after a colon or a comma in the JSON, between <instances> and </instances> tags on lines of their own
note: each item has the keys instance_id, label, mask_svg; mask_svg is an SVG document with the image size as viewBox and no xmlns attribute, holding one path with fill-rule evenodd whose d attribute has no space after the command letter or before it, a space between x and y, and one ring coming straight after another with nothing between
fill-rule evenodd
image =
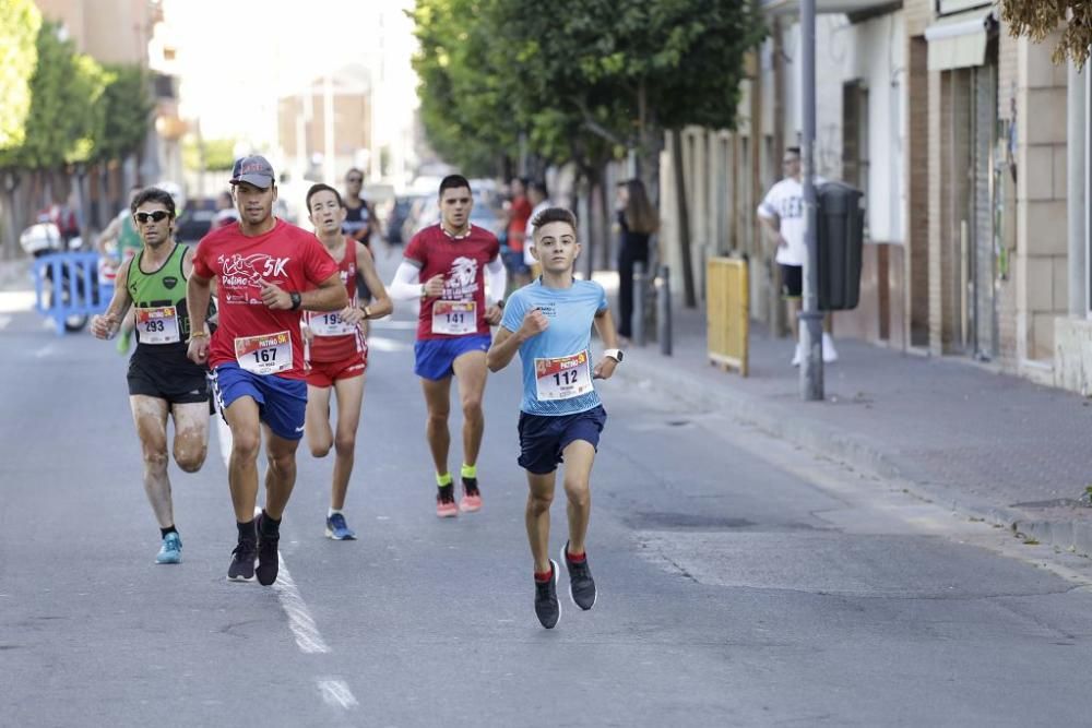
<instances>
[{"instance_id":1,"label":"bright yellow-green tree foliage at the top left edge","mask_svg":"<svg viewBox=\"0 0 1092 728\"><path fill-rule=\"evenodd\" d=\"M0 2L0 154L23 144L41 13L31 0Z\"/></svg>"}]
</instances>

